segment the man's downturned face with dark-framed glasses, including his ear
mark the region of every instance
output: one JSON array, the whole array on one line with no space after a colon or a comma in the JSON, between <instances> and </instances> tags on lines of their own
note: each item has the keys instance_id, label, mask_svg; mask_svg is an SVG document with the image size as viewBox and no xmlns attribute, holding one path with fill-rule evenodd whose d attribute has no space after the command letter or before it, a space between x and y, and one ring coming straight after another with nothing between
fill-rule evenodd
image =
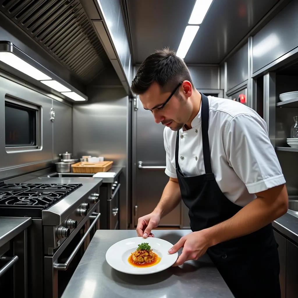
<instances>
[{"instance_id":1,"label":"man's downturned face with dark-framed glasses, including his ear","mask_svg":"<svg viewBox=\"0 0 298 298\"><path fill-rule=\"evenodd\" d=\"M176 93L171 96L175 91ZM146 110L150 110L156 123L162 123L178 131L190 119L192 106L188 98L192 93L191 83L184 81L176 86L173 92L164 92L158 83L151 84L149 89L139 95Z\"/></svg>"}]
</instances>

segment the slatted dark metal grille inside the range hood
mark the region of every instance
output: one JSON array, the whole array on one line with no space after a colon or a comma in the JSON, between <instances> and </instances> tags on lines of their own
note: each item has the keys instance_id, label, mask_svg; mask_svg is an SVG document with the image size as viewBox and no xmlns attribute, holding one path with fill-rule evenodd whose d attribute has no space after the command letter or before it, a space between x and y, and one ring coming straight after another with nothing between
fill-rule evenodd
<instances>
[{"instance_id":1,"label":"slatted dark metal grille inside the range hood","mask_svg":"<svg viewBox=\"0 0 298 298\"><path fill-rule=\"evenodd\" d=\"M85 84L110 65L79 0L0 0L0 11Z\"/></svg>"}]
</instances>

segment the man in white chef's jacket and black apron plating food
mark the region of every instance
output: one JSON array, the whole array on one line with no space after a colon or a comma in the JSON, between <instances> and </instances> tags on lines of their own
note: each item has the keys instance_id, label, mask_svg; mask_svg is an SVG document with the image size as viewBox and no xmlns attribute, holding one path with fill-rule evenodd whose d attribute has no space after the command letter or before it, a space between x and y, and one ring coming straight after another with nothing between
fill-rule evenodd
<instances>
[{"instance_id":1,"label":"man in white chef's jacket and black apron plating food","mask_svg":"<svg viewBox=\"0 0 298 298\"><path fill-rule=\"evenodd\" d=\"M287 212L288 194L264 120L242 103L196 90L169 49L144 60L131 90L165 126L169 176L159 204L138 219L138 236L154 237L182 199L192 232L169 250L183 247L174 266L207 252L236 298L280 297L271 222Z\"/></svg>"}]
</instances>

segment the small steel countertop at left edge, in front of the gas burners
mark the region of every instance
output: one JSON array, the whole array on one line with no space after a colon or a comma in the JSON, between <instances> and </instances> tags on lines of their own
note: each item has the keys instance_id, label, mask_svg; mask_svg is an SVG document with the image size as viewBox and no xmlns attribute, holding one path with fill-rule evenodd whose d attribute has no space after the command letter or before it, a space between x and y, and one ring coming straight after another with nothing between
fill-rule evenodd
<instances>
[{"instance_id":1,"label":"small steel countertop at left edge, in front of the gas burners","mask_svg":"<svg viewBox=\"0 0 298 298\"><path fill-rule=\"evenodd\" d=\"M24 231L31 217L0 217L0 247Z\"/></svg>"}]
</instances>

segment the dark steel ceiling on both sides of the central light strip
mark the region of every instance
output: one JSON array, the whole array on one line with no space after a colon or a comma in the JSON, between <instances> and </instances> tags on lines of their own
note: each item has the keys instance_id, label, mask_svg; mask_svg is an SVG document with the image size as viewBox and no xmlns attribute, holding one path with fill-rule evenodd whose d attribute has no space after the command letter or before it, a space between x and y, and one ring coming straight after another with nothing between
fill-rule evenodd
<instances>
[{"instance_id":1,"label":"dark steel ceiling on both sides of the central light strip","mask_svg":"<svg viewBox=\"0 0 298 298\"><path fill-rule=\"evenodd\" d=\"M220 63L279 0L214 0L184 59ZM177 51L195 0L126 0L134 63L154 49Z\"/></svg>"}]
</instances>

